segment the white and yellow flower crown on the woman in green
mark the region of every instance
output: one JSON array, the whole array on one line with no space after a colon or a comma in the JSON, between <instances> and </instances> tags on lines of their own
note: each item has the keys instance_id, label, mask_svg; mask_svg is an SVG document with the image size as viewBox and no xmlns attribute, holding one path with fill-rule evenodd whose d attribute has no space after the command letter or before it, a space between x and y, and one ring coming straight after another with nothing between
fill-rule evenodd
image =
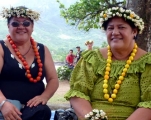
<instances>
[{"instance_id":1,"label":"white and yellow flower crown on the woman in green","mask_svg":"<svg viewBox=\"0 0 151 120\"><path fill-rule=\"evenodd\" d=\"M112 7L107 9L106 11L102 11L100 14L101 27L103 28L103 23L114 16L123 17L127 20L131 20L134 25L139 29L139 34L142 33L144 29L144 22L142 18L136 15L133 11L126 10L122 7Z\"/></svg>"}]
</instances>

